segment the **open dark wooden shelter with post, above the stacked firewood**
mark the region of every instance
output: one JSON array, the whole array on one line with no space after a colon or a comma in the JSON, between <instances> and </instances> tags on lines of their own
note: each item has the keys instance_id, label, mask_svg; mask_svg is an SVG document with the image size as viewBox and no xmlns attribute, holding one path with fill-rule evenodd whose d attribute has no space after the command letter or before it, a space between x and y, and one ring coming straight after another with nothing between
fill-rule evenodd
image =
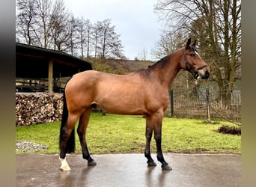
<instances>
[{"instance_id":1,"label":"open dark wooden shelter with post, above the stacked firewood","mask_svg":"<svg viewBox=\"0 0 256 187\"><path fill-rule=\"evenodd\" d=\"M92 70L88 61L65 52L16 43L16 91L61 92L64 87L56 84L61 78L85 70Z\"/></svg>"}]
</instances>

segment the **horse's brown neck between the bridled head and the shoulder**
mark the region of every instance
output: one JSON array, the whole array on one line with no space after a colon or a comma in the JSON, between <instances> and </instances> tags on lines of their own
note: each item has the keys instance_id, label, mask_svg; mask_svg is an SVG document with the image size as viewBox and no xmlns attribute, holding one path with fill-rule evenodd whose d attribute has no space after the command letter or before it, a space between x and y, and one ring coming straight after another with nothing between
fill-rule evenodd
<instances>
[{"instance_id":1,"label":"horse's brown neck between the bridled head and the shoulder","mask_svg":"<svg viewBox=\"0 0 256 187\"><path fill-rule=\"evenodd\" d=\"M177 73L180 71L180 59L177 59L175 55L170 55L165 61L156 66L156 76L159 77L159 80L162 85L165 85L167 88L170 88L174 82L174 78L177 76Z\"/></svg>"}]
</instances>

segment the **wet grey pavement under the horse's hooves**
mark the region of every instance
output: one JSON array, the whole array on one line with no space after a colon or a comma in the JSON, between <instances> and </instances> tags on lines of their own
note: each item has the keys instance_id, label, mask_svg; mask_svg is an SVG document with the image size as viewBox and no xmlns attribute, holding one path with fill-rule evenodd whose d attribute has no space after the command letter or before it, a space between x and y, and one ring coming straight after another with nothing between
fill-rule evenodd
<instances>
[{"instance_id":1,"label":"wet grey pavement under the horse's hooves","mask_svg":"<svg viewBox=\"0 0 256 187\"><path fill-rule=\"evenodd\" d=\"M71 171L61 171L58 155L16 155L16 186L242 186L241 156L165 153L172 171L147 167L144 154L67 155ZM152 154L156 161L156 154Z\"/></svg>"}]
</instances>

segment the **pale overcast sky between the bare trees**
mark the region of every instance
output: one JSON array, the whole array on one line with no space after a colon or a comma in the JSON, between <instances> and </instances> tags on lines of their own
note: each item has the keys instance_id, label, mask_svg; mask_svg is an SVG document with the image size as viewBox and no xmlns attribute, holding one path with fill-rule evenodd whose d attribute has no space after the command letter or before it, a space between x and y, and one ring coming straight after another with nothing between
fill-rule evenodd
<instances>
[{"instance_id":1,"label":"pale overcast sky between the bare trees","mask_svg":"<svg viewBox=\"0 0 256 187\"><path fill-rule=\"evenodd\" d=\"M64 0L64 4L75 17L92 23L111 19L128 59L146 52L147 60L153 60L150 53L160 37L159 19L153 13L156 0Z\"/></svg>"}]
</instances>

